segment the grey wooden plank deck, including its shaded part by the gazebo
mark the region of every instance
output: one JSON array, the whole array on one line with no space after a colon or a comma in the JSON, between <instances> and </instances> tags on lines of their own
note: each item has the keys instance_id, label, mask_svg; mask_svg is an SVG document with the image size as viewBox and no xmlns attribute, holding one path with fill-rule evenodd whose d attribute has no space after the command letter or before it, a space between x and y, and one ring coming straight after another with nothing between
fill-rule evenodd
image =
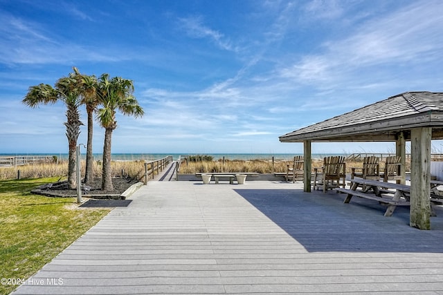
<instances>
[{"instance_id":1,"label":"grey wooden plank deck, including its shaded part by the gazebo","mask_svg":"<svg viewBox=\"0 0 443 295\"><path fill-rule=\"evenodd\" d=\"M14 294L443 294L443 209L302 184L149 182Z\"/></svg>"}]
</instances>

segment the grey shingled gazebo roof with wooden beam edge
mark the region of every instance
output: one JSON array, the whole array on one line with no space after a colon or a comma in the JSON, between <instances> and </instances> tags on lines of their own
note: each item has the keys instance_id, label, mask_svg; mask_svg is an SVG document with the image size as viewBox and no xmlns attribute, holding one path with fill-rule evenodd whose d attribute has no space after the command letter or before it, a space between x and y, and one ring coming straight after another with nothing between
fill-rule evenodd
<instances>
[{"instance_id":1,"label":"grey shingled gazebo roof with wooden beam edge","mask_svg":"<svg viewBox=\"0 0 443 295\"><path fill-rule=\"evenodd\" d=\"M432 127L443 139L443 93L406 92L281 135L280 142L391 142L410 129Z\"/></svg>"}]
</instances>

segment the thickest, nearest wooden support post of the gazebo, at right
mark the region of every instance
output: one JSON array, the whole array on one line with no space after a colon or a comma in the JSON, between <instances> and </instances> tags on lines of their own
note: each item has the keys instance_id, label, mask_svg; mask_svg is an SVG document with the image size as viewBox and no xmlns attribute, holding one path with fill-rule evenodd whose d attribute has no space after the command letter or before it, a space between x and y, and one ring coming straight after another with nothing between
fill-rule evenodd
<instances>
[{"instance_id":1,"label":"thickest, nearest wooden support post of the gazebo, at right","mask_svg":"<svg viewBox=\"0 0 443 295\"><path fill-rule=\"evenodd\" d=\"M410 132L409 225L418 229L431 229L431 132L430 127Z\"/></svg>"}]
</instances>

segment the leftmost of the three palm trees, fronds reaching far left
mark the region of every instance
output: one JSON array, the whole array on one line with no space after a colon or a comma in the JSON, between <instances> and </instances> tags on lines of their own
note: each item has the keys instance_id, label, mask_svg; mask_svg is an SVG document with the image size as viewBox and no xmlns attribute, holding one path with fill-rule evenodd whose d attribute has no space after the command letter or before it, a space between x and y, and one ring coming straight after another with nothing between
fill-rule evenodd
<instances>
[{"instance_id":1,"label":"leftmost of the three palm trees, fronds reaching far left","mask_svg":"<svg viewBox=\"0 0 443 295\"><path fill-rule=\"evenodd\" d=\"M78 75L69 74L68 77L62 77L55 83L55 88L48 84L39 84L30 86L28 93L23 99L23 103L31 108L37 107L39 104L55 104L62 101L66 104L66 137L69 144L69 164L68 164L68 187L75 189L75 148L77 146L78 135L80 135L80 106L81 88Z\"/></svg>"}]
</instances>

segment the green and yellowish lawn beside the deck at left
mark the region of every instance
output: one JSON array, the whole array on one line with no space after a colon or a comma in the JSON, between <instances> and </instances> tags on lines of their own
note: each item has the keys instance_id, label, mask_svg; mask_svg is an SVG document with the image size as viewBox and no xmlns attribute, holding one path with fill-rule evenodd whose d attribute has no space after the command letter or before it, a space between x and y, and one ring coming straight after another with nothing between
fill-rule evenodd
<instances>
[{"instance_id":1,"label":"green and yellowish lawn beside the deck at left","mask_svg":"<svg viewBox=\"0 0 443 295\"><path fill-rule=\"evenodd\" d=\"M32 276L109 212L80 209L76 198L30 193L57 180L0 181L0 278ZM9 294L16 287L0 284L0 294Z\"/></svg>"}]
</instances>

